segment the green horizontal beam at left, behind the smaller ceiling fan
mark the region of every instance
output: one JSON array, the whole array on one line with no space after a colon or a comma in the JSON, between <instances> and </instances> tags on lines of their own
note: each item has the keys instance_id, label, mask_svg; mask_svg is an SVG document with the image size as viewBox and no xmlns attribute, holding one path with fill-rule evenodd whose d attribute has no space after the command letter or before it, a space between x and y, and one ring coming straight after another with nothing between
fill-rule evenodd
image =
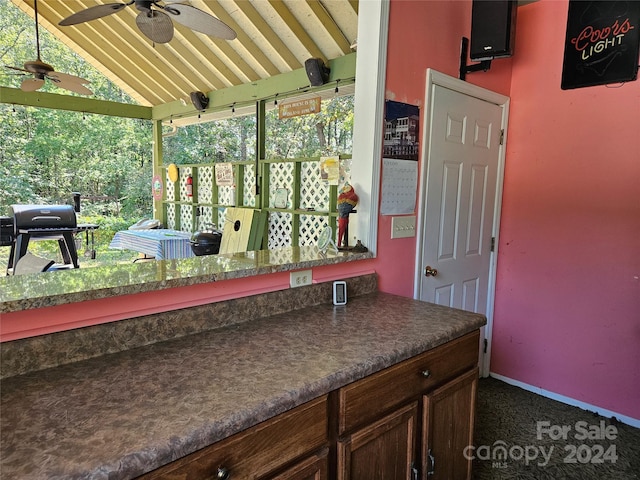
<instances>
[{"instance_id":1,"label":"green horizontal beam at left, behind the smaller ceiling fan","mask_svg":"<svg viewBox=\"0 0 640 480\"><path fill-rule=\"evenodd\" d=\"M23 92L19 88L0 87L0 103L30 107L97 113L112 117L141 118L151 120L151 107L127 103L108 102L95 98L60 95L47 92Z\"/></svg>"}]
</instances>

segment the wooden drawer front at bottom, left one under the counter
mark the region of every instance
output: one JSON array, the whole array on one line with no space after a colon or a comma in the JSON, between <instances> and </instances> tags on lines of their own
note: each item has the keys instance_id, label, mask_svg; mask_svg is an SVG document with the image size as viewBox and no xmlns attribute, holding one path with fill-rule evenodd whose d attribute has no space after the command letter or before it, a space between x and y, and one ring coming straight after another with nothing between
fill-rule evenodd
<instances>
[{"instance_id":1,"label":"wooden drawer front at bottom, left one under the counter","mask_svg":"<svg viewBox=\"0 0 640 480\"><path fill-rule=\"evenodd\" d=\"M233 480L259 478L326 446L327 423L325 395L140 478L210 480L217 478L219 468Z\"/></svg>"}]
</instances>

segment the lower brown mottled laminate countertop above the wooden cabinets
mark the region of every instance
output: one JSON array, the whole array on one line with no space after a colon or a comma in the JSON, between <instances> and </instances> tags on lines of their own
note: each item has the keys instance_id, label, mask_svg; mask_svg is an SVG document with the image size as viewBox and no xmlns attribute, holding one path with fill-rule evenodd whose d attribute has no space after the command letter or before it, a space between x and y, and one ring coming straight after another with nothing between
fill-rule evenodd
<instances>
[{"instance_id":1,"label":"lower brown mottled laminate countertop above the wooden cabinets","mask_svg":"<svg viewBox=\"0 0 640 480\"><path fill-rule=\"evenodd\" d=\"M133 478L484 324L373 293L10 377L0 472Z\"/></svg>"}]
</instances>

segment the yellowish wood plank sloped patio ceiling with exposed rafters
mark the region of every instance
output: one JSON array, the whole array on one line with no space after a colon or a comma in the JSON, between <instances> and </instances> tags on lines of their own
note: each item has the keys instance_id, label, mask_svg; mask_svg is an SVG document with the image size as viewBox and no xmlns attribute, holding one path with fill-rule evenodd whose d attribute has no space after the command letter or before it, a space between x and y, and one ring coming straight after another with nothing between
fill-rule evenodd
<instances>
[{"instance_id":1,"label":"yellowish wood plank sloped patio ceiling with exposed rafters","mask_svg":"<svg viewBox=\"0 0 640 480\"><path fill-rule=\"evenodd\" d=\"M11 0L34 16L33 0ZM140 105L156 106L248 84L353 52L358 0L191 0L237 32L221 40L174 22L174 38L154 44L138 30L133 5L60 27L69 15L109 0L38 0L40 24ZM162 2L161 2L162 3Z\"/></svg>"}]
</instances>

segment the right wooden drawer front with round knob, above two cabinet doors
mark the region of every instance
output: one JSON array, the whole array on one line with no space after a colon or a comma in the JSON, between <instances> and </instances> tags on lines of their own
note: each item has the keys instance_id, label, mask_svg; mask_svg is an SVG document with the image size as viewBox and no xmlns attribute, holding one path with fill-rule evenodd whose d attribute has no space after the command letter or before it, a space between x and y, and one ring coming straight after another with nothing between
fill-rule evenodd
<instances>
[{"instance_id":1,"label":"right wooden drawer front with round knob, above two cabinet doors","mask_svg":"<svg viewBox=\"0 0 640 480\"><path fill-rule=\"evenodd\" d=\"M340 435L475 367L479 337L476 330L341 388Z\"/></svg>"}]
</instances>

